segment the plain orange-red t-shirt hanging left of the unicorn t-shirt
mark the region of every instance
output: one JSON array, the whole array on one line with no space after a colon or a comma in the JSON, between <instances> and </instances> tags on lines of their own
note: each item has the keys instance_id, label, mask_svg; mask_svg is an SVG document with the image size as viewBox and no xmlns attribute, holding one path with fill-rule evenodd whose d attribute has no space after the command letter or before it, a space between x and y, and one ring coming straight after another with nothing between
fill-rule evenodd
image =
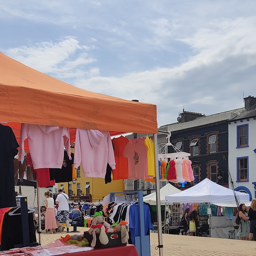
<instances>
[{"instance_id":1,"label":"plain orange-red t-shirt hanging left of the unicorn t-shirt","mask_svg":"<svg viewBox=\"0 0 256 256\"><path fill-rule=\"evenodd\" d=\"M116 169L112 171L113 180L129 179L128 158L124 157L124 148L129 140L124 136L120 136L114 138L112 142L116 161Z\"/></svg>"}]
</instances>

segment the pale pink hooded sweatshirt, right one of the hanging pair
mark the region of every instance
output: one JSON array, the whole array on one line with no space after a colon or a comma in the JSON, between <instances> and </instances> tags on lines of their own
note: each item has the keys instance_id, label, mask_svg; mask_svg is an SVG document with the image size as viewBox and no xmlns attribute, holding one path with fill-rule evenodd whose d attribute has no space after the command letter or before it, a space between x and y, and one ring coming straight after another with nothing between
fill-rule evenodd
<instances>
[{"instance_id":1,"label":"pale pink hooded sweatshirt, right one of the hanging pair","mask_svg":"<svg viewBox=\"0 0 256 256\"><path fill-rule=\"evenodd\" d=\"M105 178L107 164L116 169L114 149L107 131L76 129L74 167L82 163L84 177Z\"/></svg>"}]
</instances>

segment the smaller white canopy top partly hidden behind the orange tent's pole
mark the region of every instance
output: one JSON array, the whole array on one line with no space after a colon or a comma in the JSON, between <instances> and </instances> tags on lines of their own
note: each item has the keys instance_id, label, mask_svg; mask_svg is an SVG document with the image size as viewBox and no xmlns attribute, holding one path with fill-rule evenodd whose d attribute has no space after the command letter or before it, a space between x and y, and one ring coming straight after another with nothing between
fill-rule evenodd
<instances>
[{"instance_id":1,"label":"smaller white canopy top partly hidden behind the orange tent's pole","mask_svg":"<svg viewBox=\"0 0 256 256\"><path fill-rule=\"evenodd\" d=\"M161 205L165 205L165 196L172 195L181 192L180 189L175 188L172 184L167 183L163 188L160 189L160 200ZM143 197L143 202L156 205L156 192Z\"/></svg>"}]
</instances>

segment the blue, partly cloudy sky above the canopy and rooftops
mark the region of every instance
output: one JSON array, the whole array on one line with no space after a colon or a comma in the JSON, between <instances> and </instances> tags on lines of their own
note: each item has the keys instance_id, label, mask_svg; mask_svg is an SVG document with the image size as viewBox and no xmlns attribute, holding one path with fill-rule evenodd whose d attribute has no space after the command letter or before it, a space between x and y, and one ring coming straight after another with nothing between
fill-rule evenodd
<instances>
[{"instance_id":1,"label":"blue, partly cloudy sky above the canopy and rooftops","mask_svg":"<svg viewBox=\"0 0 256 256\"><path fill-rule=\"evenodd\" d=\"M0 51L86 90L157 105L158 124L256 96L256 1L0 0Z\"/></svg>"}]
</instances>

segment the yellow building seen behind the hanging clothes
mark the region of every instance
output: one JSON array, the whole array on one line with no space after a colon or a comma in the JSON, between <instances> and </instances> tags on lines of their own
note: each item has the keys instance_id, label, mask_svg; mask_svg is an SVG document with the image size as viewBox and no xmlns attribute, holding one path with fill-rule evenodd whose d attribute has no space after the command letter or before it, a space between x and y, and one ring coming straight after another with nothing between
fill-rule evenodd
<instances>
[{"instance_id":1,"label":"yellow building seen behind the hanging clothes","mask_svg":"<svg viewBox=\"0 0 256 256\"><path fill-rule=\"evenodd\" d=\"M74 148L71 148L74 152ZM76 180L58 184L58 188L64 186L64 191L69 195L71 201L92 200L96 202L103 200L110 192L119 192L124 190L124 180L115 180L105 184L102 178L84 177L82 166L76 170Z\"/></svg>"}]
</instances>

